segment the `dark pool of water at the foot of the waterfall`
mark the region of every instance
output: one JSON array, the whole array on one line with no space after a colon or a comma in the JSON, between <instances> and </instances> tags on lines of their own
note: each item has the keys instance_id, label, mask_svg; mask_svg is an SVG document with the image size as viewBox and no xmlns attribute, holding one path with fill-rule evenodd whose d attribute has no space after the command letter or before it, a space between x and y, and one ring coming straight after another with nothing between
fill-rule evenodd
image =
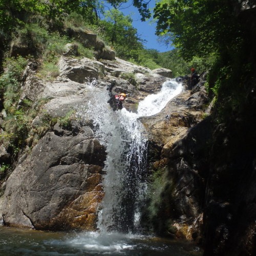
<instances>
[{"instance_id":1,"label":"dark pool of water at the foot of the waterfall","mask_svg":"<svg viewBox=\"0 0 256 256\"><path fill-rule=\"evenodd\" d=\"M0 227L0 255L199 256L187 241L97 232L44 232Z\"/></svg>"}]
</instances>

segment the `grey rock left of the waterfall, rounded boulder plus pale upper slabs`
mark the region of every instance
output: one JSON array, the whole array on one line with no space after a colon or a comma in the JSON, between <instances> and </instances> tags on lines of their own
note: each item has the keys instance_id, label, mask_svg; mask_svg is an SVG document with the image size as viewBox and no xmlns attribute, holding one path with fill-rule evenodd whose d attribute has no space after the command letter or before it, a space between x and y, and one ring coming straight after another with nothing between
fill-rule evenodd
<instances>
[{"instance_id":1,"label":"grey rock left of the waterfall, rounded boulder plus pale upper slabs","mask_svg":"<svg viewBox=\"0 0 256 256\"><path fill-rule=\"evenodd\" d=\"M118 58L99 62L65 54L58 65L60 73L54 81L36 76L36 62L24 72L20 106L24 99L34 105L42 99L45 102L31 124L33 128L44 126L44 114L56 119L80 111L81 106L86 108L95 94L88 82L94 79L95 90L106 90L114 82L113 93L127 93L123 105L129 111L136 111L140 100L159 91L169 79ZM95 138L91 120L86 124L74 121L71 126L63 128L56 123L31 152L20 154L13 173L1 187L5 194L0 200L0 215L6 225L45 230L96 229L104 196L101 180L106 153ZM9 157L5 148L0 149L1 158Z\"/></svg>"}]
</instances>

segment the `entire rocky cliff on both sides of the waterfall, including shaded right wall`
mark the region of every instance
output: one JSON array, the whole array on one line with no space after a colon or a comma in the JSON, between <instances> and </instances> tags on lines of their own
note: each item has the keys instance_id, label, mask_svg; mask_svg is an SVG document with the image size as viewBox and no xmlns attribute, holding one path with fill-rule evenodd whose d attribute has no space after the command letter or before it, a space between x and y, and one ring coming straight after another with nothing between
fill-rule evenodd
<instances>
[{"instance_id":1,"label":"entire rocky cliff on both sides of the waterfall, including shaded right wall","mask_svg":"<svg viewBox=\"0 0 256 256\"><path fill-rule=\"evenodd\" d=\"M95 230L104 196L105 148L92 120L72 118L63 125L57 118L90 103L95 94L90 81L96 81L99 91L114 84L114 92L128 95L124 107L136 112L138 102L157 93L172 74L119 58L97 61L63 55L58 66L60 75L53 81L37 76L36 62L24 72L19 104L29 99L33 108L44 99L33 129L46 121L54 125L35 146L20 152L1 186L0 212L11 226ZM144 226L160 235L203 243L205 255L253 255L254 86L248 89L243 112L217 125L210 115L205 74L193 90L187 90L188 77L177 79L184 84L183 92L160 113L141 118L148 133L150 187ZM10 157L4 145L0 157Z\"/></svg>"}]
</instances>

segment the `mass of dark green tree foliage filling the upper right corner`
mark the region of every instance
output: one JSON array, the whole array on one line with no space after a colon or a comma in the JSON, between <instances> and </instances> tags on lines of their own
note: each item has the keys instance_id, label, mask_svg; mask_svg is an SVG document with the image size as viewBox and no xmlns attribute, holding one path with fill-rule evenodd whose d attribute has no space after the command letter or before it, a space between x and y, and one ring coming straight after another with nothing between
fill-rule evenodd
<instances>
[{"instance_id":1,"label":"mass of dark green tree foliage filling the upper right corner","mask_svg":"<svg viewBox=\"0 0 256 256\"><path fill-rule=\"evenodd\" d=\"M253 86L245 80L255 79L255 32L238 18L234 5L229 0L162 0L154 17L157 33L168 34L188 67L209 71L215 119L227 122L246 112Z\"/></svg>"}]
</instances>

